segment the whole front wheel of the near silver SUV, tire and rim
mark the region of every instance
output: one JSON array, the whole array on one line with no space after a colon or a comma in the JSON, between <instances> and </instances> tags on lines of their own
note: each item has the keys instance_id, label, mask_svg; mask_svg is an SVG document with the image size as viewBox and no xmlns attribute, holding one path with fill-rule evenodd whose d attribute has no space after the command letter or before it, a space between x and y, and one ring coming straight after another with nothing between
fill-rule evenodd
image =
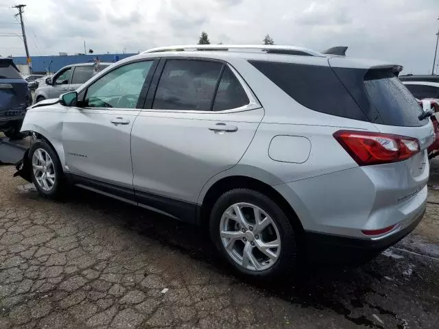
<instances>
[{"instance_id":1,"label":"whole front wheel of the near silver SUV, tire and rim","mask_svg":"<svg viewBox=\"0 0 439 329\"><path fill-rule=\"evenodd\" d=\"M57 199L65 187L64 173L55 150L43 140L35 141L29 149L32 181L40 195Z\"/></svg>"}]
</instances>

